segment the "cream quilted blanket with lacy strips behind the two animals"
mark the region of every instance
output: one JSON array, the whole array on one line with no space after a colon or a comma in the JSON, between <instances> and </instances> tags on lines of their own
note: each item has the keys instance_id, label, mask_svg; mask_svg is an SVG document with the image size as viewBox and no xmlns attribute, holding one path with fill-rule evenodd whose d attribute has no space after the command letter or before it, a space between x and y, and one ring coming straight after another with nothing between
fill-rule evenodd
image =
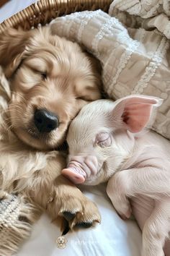
<instances>
[{"instance_id":1,"label":"cream quilted blanket with lacy strips behind the two animals","mask_svg":"<svg viewBox=\"0 0 170 256\"><path fill-rule=\"evenodd\" d=\"M170 139L169 17L170 1L115 0L109 14L73 13L53 20L51 29L97 56L109 97L133 93L163 98L153 129Z\"/></svg>"}]
</instances>

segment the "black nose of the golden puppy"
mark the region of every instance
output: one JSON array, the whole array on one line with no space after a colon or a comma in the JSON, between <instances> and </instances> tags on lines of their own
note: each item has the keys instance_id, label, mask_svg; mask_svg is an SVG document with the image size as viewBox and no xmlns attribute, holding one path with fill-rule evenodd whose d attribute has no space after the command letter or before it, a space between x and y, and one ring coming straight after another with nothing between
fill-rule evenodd
<instances>
[{"instance_id":1,"label":"black nose of the golden puppy","mask_svg":"<svg viewBox=\"0 0 170 256\"><path fill-rule=\"evenodd\" d=\"M58 116L46 109L37 109L34 121L39 132L51 132L59 125Z\"/></svg>"}]
</instances>

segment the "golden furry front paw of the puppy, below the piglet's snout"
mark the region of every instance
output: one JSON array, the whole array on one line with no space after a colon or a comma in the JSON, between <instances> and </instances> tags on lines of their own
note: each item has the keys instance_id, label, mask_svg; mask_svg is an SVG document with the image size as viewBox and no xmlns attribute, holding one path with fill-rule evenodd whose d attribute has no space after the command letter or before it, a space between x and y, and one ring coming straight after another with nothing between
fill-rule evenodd
<instances>
[{"instance_id":1,"label":"golden furry front paw of the puppy, below the piglet's snout","mask_svg":"<svg viewBox=\"0 0 170 256\"><path fill-rule=\"evenodd\" d=\"M64 178L65 179L65 178ZM74 184L68 181L58 182L55 192L48 203L48 212L53 218L61 216L65 218L69 229L89 228L95 223L100 223L99 210L94 202L85 197ZM65 223L66 224L66 223ZM62 229L66 225L62 226Z\"/></svg>"}]
</instances>

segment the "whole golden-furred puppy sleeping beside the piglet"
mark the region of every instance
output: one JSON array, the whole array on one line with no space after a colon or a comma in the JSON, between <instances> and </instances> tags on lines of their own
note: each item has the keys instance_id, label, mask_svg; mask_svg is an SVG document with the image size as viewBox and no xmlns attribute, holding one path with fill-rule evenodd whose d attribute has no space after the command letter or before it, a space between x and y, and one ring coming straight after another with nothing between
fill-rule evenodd
<instances>
[{"instance_id":1,"label":"whole golden-furred puppy sleeping beside the piglet","mask_svg":"<svg viewBox=\"0 0 170 256\"><path fill-rule=\"evenodd\" d=\"M51 218L64 216L71 229L99 221L94 203L60 176L65 155L58 151L70 121L100 98L97 61L45 27L6 30L0 38L0 65L11 90L8 101L0 98L1 194L20 193ZM0 255L7 255L6 248L9 244L1 240Z\"/></svg>"}]
</instances>

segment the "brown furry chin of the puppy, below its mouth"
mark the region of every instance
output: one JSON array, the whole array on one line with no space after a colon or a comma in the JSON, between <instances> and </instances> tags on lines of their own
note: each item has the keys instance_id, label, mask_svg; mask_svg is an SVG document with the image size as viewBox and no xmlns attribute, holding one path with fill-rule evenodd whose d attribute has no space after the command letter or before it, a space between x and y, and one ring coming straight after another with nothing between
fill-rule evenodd
<instances>
[{"instance_id":1,"label":"brown furry chin of the puppy, below its mouth","mask_svg":"<svg viewBox=\"0 0 170 256\"><path fill-rule=\"evenodd\" d=\"M13 129L14 134L27 144L28 146L35 148L37 150L56 150L59 145L64 142L64 138L61 138L57 142L54 140L50 140L49 138L44 137L35 137L32 136L29 132L24 131L22 128Z\"/></svg>"}]
</instances>

